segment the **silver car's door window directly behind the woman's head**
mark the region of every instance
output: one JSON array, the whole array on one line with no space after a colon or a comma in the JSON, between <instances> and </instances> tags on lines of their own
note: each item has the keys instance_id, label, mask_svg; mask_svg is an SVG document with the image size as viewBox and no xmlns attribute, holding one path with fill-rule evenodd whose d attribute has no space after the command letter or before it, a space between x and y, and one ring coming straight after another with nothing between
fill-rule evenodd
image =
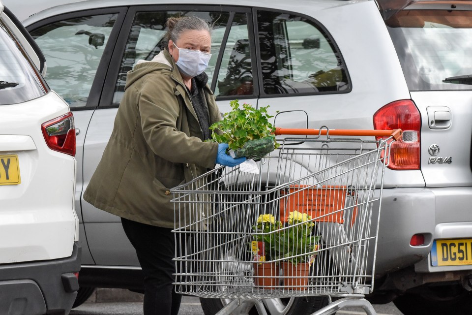
<instances>
[{"instance_id":1,"label":"silver car's door window directly behind the woman's head","mask_svg":"<svg viewBox=\"0 0 472 315\"><path fill-rule=\"evenodd\" d=\"M136 13L125 51L118 72L117 85L113 95L113 104L118 105L123 97L126 85L126 73L132 70L139 60L150 61L166 45L164 35L166 20L172 16L181 16L182 12L160 11L160 12L138 12ZM213 25L214 31L211 38L211 59L207 70L208 84L211 84L213 72L215 71L216 59L223 40L223 34L228 23L228 12L203 12L190 11L186 15L194 15L207 20Z\"/></svg>"}]
</instances>

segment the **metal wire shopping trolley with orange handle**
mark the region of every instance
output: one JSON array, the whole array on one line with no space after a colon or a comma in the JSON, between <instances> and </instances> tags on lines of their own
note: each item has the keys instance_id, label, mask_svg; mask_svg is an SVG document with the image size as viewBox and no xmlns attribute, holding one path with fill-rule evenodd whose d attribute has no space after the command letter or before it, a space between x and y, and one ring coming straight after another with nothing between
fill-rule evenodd
<instances>
[{"instance_id":1,"label":"metal wire shopping trolley with orange handle","mask_svg":"<svg viewBox=\"0 0 472 315\"><path fill-rule=\"evenodd\" d=\"M374 288L383 175L401 130L276 129L261 160L218 166L171 189L176 291L232 299L266 315L265 298L338 298L314 315L355 306ZM287 136L290 135L290 136ZM295 135L295 136L294 136Z\"/></svg>"}]
</instances>

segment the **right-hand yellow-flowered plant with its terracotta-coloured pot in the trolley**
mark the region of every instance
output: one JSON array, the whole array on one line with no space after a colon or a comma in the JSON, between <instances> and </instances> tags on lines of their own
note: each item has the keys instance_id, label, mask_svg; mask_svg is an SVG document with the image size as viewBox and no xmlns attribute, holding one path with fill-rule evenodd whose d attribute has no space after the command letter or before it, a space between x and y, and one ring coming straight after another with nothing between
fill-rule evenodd
<instances>
[{"instance_id":1,"label":"right-hand yellow-flowered plant with its terracotta-coloured pot in the trolley","mask_svg":"<svg viewBox=\"0 0 472 315\"><path fill-rule=\"evenodd\" d=\"M315 223L306 213L290 212L288 225L280 233L278 244L284 261L284 286L304 290L308 284L309 269L318 249L318 235L313 235Z\"/></svg>"}]
</instances>

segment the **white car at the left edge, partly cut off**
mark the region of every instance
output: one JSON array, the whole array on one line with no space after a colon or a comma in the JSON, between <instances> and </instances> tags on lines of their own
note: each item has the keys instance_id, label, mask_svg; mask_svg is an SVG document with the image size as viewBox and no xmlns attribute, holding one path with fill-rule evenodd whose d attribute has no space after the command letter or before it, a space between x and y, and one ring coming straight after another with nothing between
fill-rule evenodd
<instances>
[{"instance_id":1,"label":"white car at the left edge, partly cut off","mask_svg":"<svg viewBox=\"0 0 472 315\"><path fill-rule=\"evenodd\" d=\"M0 314L68 314L79 289L76 138L39 47L0 1Z\"/></svg>"}]
</instances>

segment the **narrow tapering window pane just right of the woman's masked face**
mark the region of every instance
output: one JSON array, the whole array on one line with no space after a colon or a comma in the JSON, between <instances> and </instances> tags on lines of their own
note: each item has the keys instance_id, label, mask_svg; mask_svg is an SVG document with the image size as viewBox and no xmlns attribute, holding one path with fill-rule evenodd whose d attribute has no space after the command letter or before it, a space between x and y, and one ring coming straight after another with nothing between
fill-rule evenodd
<instances>
[{"instance_id":1,"label":"narrow tapering window pane just right of the woman's masked face","mask_svg":"<svg viewBox=\"0 0 472 315\"><path fill-rule=\"evenodd\" d=\"M253 95L252 78L246 14L237 13L233 19L223 53L215 95Z\"/></svg>"}]
</instances>

